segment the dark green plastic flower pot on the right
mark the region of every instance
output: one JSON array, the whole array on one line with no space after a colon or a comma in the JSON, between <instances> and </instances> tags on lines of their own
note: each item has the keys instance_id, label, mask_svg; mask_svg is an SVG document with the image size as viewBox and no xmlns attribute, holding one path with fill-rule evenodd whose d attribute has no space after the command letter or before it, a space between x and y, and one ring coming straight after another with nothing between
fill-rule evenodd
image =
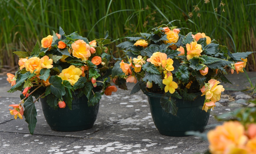
<instances>
[{"instance_id":1,"label":"dark green plastic flower pot on the right","mask_svg":"<svg viewBox=\"0 0 256 154\"><path fill-rule=\"evenodd\" d=\"M210 117L210 110L202 110L205 96L199 96L194 101L176 99L177 116L166 113L160 105L161 94L146 93L150 112L159 133L165 136L187 136L186 131L203 132Z\"/></svg>"}]
</instances>

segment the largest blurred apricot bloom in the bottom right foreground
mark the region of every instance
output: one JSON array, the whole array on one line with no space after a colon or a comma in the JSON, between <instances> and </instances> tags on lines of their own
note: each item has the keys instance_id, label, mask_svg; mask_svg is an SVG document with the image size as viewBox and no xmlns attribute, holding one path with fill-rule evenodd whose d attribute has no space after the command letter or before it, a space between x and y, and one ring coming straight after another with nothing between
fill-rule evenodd
<instances>
[{"instance_id":1,"label":"largest blurred apricot bloom in the bottom right foreground","mask_svg":"<svg viewBox=\"0 0 256 154\"><path fill-rule=\"evenodd\" d=\"M238 121L224 122L207 133L211 153L230 153L234 148L242 149L247 143L244 126Z\"/></svg>"}]
</instances>

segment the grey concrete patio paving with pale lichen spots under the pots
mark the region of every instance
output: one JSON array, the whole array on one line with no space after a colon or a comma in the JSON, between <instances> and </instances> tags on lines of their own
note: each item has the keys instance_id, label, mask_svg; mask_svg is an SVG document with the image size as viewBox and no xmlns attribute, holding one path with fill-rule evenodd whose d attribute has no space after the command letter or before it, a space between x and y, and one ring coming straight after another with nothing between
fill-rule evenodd
<instances>
[{"instance_id":1,"label":"grey concrete patio paving with pale lichen spots under the pots","mask_svg":"<svg viewBox=\"0 0 256 154\"><path fill-rule=\"evenodd\" d=\"M256 72L248 72L256 77ZM250 87L244 74L229 75L234 84L226 89L242 90ZM255 85L256 80L252 80ZM10 115L9 104L20 101L20 91L7 93L11 88L6 76L0 76L0 153L125 153L125 154L193 154L204 153L209 143L200 137L169 137L159 134L149 109L147 97L140 91L118 89L112 96L102 96L99 114L93 128L78 132L56 132L50 129L44 118L41 103L36 103L37 124L34 135L29 134L25 119L15 120ZM129 85L129 89L132 85ZM214 115L235 110L218 106L211 111L206 131L219 124ZM175 125L175 124L174 124Z\"/></svg>"}]
</instances>

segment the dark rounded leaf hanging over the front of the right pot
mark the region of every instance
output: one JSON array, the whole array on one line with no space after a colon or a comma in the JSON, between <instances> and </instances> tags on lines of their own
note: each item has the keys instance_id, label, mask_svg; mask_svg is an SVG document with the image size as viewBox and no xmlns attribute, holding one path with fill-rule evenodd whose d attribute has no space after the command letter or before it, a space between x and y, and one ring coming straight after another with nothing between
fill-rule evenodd
<instances>
[{"instance_id":1,"label":"dark rounded leaf hanging over the front of the right pot","mask_svg":"<svg viewBox=\"0 0 256 154\"><path fill-rule=\"evenodd\" d=\"M178 108L176 106L176 101L174 99L170 99L169 97L163 96L160 99L160 104L165 112L171 113L174 116L177 115Z\"/></svg>"}]
</instances>

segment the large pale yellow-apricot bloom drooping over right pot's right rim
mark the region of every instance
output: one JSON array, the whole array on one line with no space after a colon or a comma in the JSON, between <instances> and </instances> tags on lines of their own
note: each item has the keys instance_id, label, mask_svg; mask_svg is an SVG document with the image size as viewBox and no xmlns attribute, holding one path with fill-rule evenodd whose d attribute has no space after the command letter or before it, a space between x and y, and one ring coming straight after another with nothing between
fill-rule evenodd
<instances>
[{"instance_id":1,"label":"large pale yellow-apricot bloom drooping over right pot's right rim","mask_svg":"<svg viewBox=\"0 0 256 154\"><path fill-rule=\"evenodd\" d=\"M202 92L201 96L205 95L206 99L210 99L213 102L220 101L221 92L225 89L222 85L218 85L219 83L220 82L215 79L209 80L208 83L200 89Z\"/></svg>"}]
</instances>

